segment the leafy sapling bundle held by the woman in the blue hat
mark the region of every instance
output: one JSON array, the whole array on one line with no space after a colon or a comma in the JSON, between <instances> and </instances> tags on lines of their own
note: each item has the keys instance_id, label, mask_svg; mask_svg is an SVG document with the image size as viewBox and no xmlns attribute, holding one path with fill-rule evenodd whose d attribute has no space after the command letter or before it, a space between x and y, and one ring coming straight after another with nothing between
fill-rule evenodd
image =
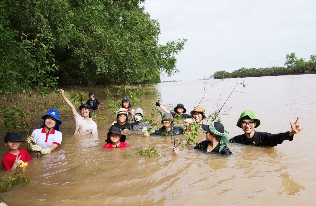
<instances>
[{"instance_id":1,"label":"leafy sapling bundle held by the woman in the blue hat","mask_svg":"<svg viewBox=\"0 0 316 206\"><path fill-rule=\"evenodd\" d=\"M22 109L22 105L16 106L13 105L11 108L9 108L7 105L0 104L0 110L3 119L0 121L3 123L3 126L5 127L6 131L10 131L10 129L17 129L19 128L21 130L21 137L27 138L32 136L31 130L27 122L25 121L27 114ZM33 145L35 145L34 141L31 141ZM43 156L43 154L40 151L35 151L37 157Z\"/></svg>"}]
</instances>

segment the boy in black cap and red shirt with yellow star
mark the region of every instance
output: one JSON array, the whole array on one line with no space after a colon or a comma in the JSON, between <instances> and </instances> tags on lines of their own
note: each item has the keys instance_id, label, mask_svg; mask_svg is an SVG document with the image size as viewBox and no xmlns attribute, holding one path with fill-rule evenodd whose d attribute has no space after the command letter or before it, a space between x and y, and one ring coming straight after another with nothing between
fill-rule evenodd
<instances>
[{"instance_id":1,"label":"boy in black cap and red shirt with yellow star","mask_svg":"<svg viewBox=\"0 0 316 206\"><path fill-rule=\"evenodd\" d=\"M27 162L32 160L30 155L24 149L18 149L21 145L22 138L19 133L7 133L4 137L5 146L9 147L9 151L3 156L2 165L5 170L14 170L17 167L27 166Z\"/></svg>"}]
</instances>

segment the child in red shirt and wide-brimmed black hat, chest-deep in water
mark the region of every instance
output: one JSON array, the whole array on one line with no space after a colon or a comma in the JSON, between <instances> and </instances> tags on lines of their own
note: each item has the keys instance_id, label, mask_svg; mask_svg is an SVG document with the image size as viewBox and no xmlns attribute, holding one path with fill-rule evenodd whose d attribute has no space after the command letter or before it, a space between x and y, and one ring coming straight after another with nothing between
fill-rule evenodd
<instances>
[{"instance_id":1,"label":"child in red shirt and wide-brimmed black hat, chest-deep in water","mask_svg":"<svg viewBox=\"0 0 316 206\"><path fill-rule=\"evenodd\" d=\"M103 147L104 148L121 148L128 147L129 144L125 143L126 136L122 134L121 129L119 127L111 127L109 132L107 133L106 142Z\"/></svg>"}]
</instances>

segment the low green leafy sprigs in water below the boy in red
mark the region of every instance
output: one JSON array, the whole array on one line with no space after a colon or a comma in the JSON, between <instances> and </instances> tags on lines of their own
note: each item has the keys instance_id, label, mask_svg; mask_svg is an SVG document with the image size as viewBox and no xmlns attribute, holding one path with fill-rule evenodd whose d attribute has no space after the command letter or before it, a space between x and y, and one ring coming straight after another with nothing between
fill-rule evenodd
<instances>
[{"instance_id":1,"label":"low green leafy sprigs in water below the boy in red","mask_svg":"<svg viewBox=\"0 0 316 206\"><path fill-rule=\"evenodd\" d=\"M24 175L21 167L15 169L12 174L9 175L9 178L6 173L4 177L0 178L0 192L9 191L14 185L17 185L20 182L22 185L26 185L30 182L30 179Z\"/></svg>"}]
</instances>

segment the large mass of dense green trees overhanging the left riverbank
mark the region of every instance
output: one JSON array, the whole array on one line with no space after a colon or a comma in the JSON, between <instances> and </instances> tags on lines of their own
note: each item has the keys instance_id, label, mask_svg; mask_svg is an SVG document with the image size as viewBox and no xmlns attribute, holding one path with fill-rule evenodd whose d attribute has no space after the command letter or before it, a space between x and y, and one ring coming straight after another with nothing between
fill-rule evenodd
<instances>
[{"instance_id":1,"label":"large mass of dense green trees overhanging the left riverbank","mask_svg":"<svg viewBox=\"0 0 316 206\"><path fill-rule=\"evenodd\" d=\"M186 39L158 44L144 0L0 0L0 95L160 82Z\"/></svg>"}]
</instances>

